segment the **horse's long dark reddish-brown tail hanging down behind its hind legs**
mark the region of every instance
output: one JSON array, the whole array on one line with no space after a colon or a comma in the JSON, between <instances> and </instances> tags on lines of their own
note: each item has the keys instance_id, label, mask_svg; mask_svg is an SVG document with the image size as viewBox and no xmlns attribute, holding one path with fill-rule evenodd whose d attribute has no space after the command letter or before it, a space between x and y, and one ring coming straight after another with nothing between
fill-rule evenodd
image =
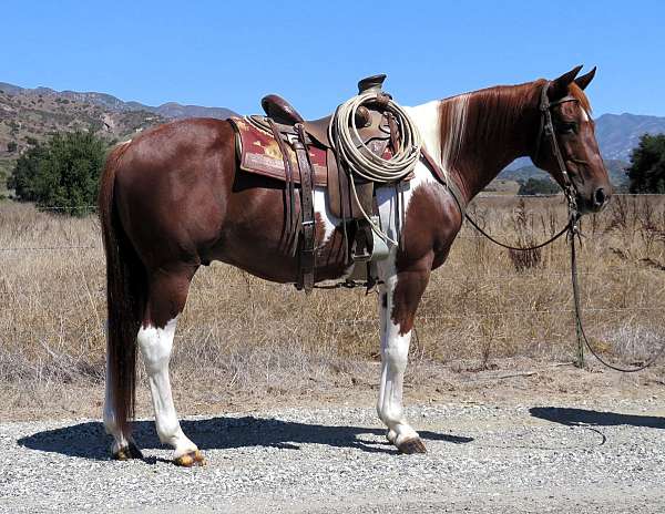
<instances>
[{"instance_id":1,"label":"horse's long dark reddish-brown tail hanging down behind its hind legs","mask_svg":"<svg viewBox=\"0 0 665 514\"><path fill-rule=\"evenodd\" d=\"M115 173L127 143L116 146L106 160L98 206L106 254L106 388L112 392L114 421L123 434L134 417L136 335L141 326L145 269L117 214Z\"/></svg>"}]
</instances>

